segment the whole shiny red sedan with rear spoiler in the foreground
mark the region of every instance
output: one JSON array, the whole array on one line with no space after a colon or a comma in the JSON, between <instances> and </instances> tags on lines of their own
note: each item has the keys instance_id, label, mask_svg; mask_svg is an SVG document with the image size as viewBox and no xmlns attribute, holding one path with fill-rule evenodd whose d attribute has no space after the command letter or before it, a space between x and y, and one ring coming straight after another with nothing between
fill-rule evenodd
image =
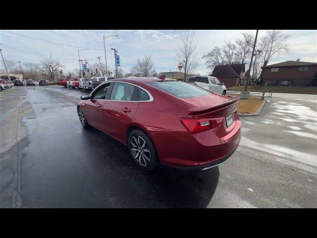
<instances>
[{"instance_id":1,"label":"whole shiny red sedan with rear spoiler in the foreground","mask_svg":"<svg viewBox=\"0 0 317 238\"><path fill-rule=\"evenodd\" d=\"M145 170L159 164L206 170L239 145L239 97L230 98L173 79L120 78L81 97L81 124L129 147Z\"/></svg>"}]
</instances>

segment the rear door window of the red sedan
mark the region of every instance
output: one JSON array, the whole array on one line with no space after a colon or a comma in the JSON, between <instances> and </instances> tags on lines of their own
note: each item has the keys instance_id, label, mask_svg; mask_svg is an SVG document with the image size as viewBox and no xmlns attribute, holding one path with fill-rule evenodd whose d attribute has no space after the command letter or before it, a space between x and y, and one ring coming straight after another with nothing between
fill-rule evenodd
<instances>
[{"instance_id":1,"label":"rear door window of the red sedan","mask_svg":"<svg viewBox=\"0 0 317 238\"><path fill-rule=\"evenodd\" d=\"M111 90L110 100L138 101L138 89L128 83L114 83Z\"/></svg>"}]
</instances>

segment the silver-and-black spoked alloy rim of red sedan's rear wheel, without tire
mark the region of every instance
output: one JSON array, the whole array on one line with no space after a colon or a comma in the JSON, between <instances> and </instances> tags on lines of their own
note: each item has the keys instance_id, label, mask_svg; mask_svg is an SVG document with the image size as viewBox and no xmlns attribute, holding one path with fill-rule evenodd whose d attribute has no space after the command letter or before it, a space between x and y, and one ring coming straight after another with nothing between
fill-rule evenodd
<instances>
[{"instance_id":1,"label":"silver-and-black spoked alloy rim of red sedan's rear wheel, without tire","mask_svg":"<svg viewBox=\"0 0 317 238\"><path fill-rule=\"evenodd\" d=\"M130 140L131 153L136 161L141 166L149 165L151 161L151 152L147 149L146 141L138 135L137 139L136 136L132 136Z\"/></svg>"}]
</instances>

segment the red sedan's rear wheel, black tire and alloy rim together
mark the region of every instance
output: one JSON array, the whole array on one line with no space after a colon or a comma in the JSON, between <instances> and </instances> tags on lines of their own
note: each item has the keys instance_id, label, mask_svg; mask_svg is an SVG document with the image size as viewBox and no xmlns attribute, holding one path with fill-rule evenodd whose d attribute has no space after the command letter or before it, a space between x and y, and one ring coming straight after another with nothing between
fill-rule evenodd
<instances>
[{"instance_id":1,"label":"red sedan's rear wheel, black tire and alloy rim together","mask_svg":"<svg viewBox=\"0 0 317 238\"><path fill-rule=\"evenodd\" d=\"M159 166L157 150L144 131L133 130L128 138L128 146L132 159L141 169L153 170Z\"/></svg>"}]
</instances>

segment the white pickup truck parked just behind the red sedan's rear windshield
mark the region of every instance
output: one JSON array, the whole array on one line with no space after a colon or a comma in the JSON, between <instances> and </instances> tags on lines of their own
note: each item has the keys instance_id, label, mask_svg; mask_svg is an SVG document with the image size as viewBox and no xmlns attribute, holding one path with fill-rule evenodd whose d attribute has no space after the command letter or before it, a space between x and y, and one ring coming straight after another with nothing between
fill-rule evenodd
<instances>
[{"instance_id":1,"label":"white pickup truck parked just behind the red sedan's rear windshield","mask_svg":"<svg viewBox=\"0 0 317 238\"><path fill-rule=\"evenodd\" d=\"M211 76L192 76L189 77L187 83L205 88L211 92L226 95L227 88L219 79Z\"/></svg>"}]
</instances>

